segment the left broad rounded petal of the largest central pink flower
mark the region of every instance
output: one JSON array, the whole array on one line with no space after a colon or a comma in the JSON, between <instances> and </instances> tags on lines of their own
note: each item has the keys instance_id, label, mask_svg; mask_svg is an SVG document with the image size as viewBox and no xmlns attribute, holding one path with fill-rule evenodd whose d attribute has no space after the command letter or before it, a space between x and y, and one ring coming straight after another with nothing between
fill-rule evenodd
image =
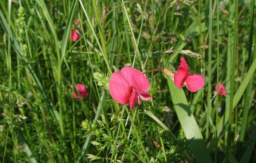
<instances>
[{"instance_id":1,"label":"left broad rounded petal of the largest central pink flower","mask_svg":"<svg viewBox=\"0 0 256 163\"><path fill-rule=\"evenodd\" d=\"M129 82L124 79L121 73L114 72L109 81L109 92L114 100L118 103L129 103L132 94L132 87Z\"/></svg>"}]
</instances>

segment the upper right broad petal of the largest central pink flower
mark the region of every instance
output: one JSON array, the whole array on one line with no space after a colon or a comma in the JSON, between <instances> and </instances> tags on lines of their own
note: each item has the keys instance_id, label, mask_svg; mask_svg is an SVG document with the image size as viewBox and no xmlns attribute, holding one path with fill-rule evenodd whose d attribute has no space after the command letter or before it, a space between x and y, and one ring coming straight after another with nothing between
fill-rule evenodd
<instances>
[{"instance_id":1,"label":"upper right broad petal of the largest central pink flower","mask_svg":"<svg viewBox=\"0 0 256 163\"><path fill-rule=\"evenodd\" d=\"M147 92L149 90L149 80L139 70L131 67L122 68L121 74L134 89Z\"/></svg>"}]
</instances>

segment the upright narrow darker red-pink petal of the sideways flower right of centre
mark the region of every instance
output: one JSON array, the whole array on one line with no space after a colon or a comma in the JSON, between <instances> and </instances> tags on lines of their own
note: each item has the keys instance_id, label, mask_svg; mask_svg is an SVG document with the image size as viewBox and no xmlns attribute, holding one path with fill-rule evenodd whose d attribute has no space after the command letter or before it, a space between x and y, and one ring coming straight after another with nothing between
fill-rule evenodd
<instances>
[{"instance_id":1,"label":"upright narrow darker red-pink petal of the sideways flower right of centre","mask_svg":"<svg viewBox=\"0 0 256 163\"><path fill-rule=\"evenodd\" d=\"M177 73L174 75L175 85L181 89L182 84L186 81L188 77L188 66L186 60L181 56L180 66L178 67Z\"/></svg>"}]
</instances>

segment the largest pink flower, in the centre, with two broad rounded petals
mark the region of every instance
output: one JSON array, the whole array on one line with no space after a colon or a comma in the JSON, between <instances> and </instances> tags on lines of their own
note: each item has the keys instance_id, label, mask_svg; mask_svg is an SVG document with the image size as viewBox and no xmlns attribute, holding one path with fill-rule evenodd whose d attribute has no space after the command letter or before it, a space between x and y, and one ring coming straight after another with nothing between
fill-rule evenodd
<instances>
[{"instance_id":1,"label":"largest pink flower, in the centre, with two broad rounded petals","mask_svg":"<svg viewBox=\"0 0 256 163\"><path fill-rule=\"evenodd\" d=\"M131 110L141 100L150 100L149 80L139 70L125 67L121 73L114 72L109 81L109 92L118 103L130 103Z\"/></svg>"}]
</instances>

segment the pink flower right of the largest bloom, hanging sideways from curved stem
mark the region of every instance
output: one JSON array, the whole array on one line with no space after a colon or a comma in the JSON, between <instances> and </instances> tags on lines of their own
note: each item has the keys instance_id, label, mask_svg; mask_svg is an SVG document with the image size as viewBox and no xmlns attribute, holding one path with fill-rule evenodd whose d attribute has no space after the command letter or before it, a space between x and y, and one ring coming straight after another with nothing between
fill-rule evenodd
<instances>
[{"instance_id":1,"label":"pink flower right of the largest bloom, hanging sideways from curved stem","mask_svg":"<svg viewBox=\"0 0 256 163\"><path fill-rule=\"evenodd\" d=\"M203 87L205 78L197 74L190 75L188 71L186 60L181 56L180 66L174 75L174 83L179 89L185 85L189 91L196 92Z\"/></svg>"}]
</instances>

